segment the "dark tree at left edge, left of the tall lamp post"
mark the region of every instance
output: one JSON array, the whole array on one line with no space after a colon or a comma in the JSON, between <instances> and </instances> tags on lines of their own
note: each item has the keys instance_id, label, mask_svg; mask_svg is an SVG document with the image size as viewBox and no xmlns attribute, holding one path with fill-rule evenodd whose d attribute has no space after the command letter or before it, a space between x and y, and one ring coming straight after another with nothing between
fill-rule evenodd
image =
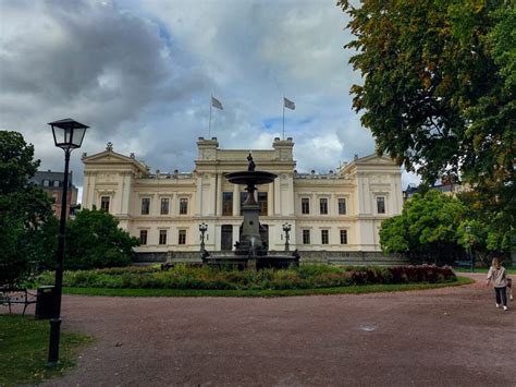
<instances>
[{"instance_id":1,"label":"dark tree at left edge, left of the tall lamp post","mask_svg":"<svg viewBox=\"0 0 516 387\"><path fill-rule=\"evenodd\" d=\"M39 160L33 158L34 146L27 145L20 133L0 131L2 285L19 285L29 276L35 261L53 255L54 252L52 243L41 250L37 238L41 232L51 232L50 225L57 220L47 194L29 182L39 166Z\"/></svg>"}]
</instances>

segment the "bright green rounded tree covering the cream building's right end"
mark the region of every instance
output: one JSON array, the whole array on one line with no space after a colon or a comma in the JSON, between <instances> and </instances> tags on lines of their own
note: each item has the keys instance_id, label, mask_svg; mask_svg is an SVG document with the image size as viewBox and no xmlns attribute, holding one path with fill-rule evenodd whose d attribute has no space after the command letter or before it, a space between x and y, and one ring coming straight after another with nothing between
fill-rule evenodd
<instances>
[{"instance_id":1,"label":"bright green rounded tree covering the cream building's right end","mask_svg":"<svg viewBox=\"0 0 516 387\"><path fill-rule=\"evenodd\" d=\"M453 264L465 254L457 243L457 229L467 207L439 191L416 193L402 215L386 219L380 230L380 245L386 254L400 253L414 263Z\"/></svg>"}]
</instances>

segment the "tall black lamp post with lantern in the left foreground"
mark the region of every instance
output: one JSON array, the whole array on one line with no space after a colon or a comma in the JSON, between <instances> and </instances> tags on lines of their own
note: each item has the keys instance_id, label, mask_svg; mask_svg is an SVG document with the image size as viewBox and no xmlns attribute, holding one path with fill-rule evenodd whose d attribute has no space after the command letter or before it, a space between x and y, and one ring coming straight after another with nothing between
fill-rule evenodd
<instances>
[{"instance_id":1,"label":"tall black lamp post with lantern in the left foreground","mask_svg":"<svg viewBox=\"0 0 516 387\"><path fill-rule=\"evenodd\" d=\"M59 361L59 341L61 334L61 294L63 288L63 261L64 261L64 231L66 225L66 196L69 193L69 162L73 149L79 148L86 133L85 124L72 119L50 122L53 141L57 147L64 150L64 180L61 196L61 220L59 222L58 255L56 263L56 285L53 288L53 313L50 318L50 341L48 348L48 366L56 366Z\"/></svg>"}]
</instances>

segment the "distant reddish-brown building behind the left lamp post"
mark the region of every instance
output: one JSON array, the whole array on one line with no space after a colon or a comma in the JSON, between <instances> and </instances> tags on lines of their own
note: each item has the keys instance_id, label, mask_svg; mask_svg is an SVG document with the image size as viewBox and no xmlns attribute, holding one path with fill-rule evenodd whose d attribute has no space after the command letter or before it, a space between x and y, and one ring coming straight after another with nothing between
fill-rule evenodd
<instances>
[{"instance_id":1,"label":"distant reddish-brown building behind the left lamp post","mask_svg":"<svg viewBox=\"0 0 516 387\"><path fill-rule=\"evenodd\" d=\"M61 197L63 194L63 172L52 172L48 170L37 171L36 174L30 179L33 183L36 183L41 188L48 196L52 199L52 209L58 218L61 217ZM69 174L69 192L66 198L66 219L74 214L77 208L77 193L78 190L72 182L72 172Z\"/></svg>"}]
</instances>

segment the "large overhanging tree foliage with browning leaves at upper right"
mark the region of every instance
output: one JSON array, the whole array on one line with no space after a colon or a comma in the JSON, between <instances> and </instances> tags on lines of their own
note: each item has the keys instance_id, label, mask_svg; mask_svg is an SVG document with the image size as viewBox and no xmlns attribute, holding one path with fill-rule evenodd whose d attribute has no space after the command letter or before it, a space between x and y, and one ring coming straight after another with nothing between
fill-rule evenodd
<instances>
[{"instance_id":1,"label":"large overhanging tree foliage with browning leaves at upper right","mask_svg":"<svg viewBox=\"0 0 516 387\"><path fill-rule=\"evenodd\" d=\"M367 0L352 20L364 76L354 108L386 153L428 184L460 176L489 217L516 223L516 7L507 0ZM503 214L501 214L503 213ZM502 220L503 219L503 220Z\"/></svg>"}]
</instances>

